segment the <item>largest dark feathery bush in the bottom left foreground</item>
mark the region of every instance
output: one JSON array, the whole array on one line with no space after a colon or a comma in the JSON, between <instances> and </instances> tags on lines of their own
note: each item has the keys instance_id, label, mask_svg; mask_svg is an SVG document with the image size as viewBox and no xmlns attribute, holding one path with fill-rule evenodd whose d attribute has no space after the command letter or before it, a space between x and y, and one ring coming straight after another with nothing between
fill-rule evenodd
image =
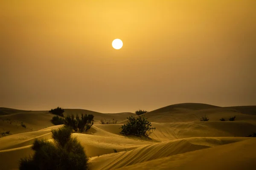
<instances>
[{"instance_id":1,"label":"largest dark feathery bush in the bottom left foreground","mask_svg":"<svg viewBox=\"0 0 256 170\"><path fill-rule=\"evenodd\" d=\"M52 139L35 139L33 156L20 160L20 170L87 170L88 159L84 147L71 137L70 127L52 130Z\"/></svg>"}]
</instances>

